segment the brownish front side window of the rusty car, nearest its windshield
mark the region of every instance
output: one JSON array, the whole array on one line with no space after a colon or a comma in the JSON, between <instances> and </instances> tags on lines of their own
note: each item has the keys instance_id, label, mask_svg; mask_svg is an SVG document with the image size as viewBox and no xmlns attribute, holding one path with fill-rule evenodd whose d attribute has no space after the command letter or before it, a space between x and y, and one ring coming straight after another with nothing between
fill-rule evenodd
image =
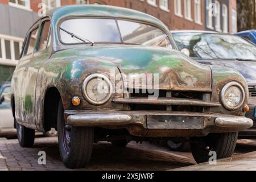
<instances>
[{"instance_id":1,"label":"brownish front side window of the rusty car, nearest its windshield","mask_svg":"<svg viewBox=\"0 0 256 182\"><path fill-rule=\"evenodd\" d=\"M40 44L39 44L38 51L42 51L49 46L48 42L51 41L50 40L50 38L51 38L50 31L51 31L51 22L48 20L43 23L43 28L42 28L42 33L40 36Z\"/></svg>"}]
</instances>

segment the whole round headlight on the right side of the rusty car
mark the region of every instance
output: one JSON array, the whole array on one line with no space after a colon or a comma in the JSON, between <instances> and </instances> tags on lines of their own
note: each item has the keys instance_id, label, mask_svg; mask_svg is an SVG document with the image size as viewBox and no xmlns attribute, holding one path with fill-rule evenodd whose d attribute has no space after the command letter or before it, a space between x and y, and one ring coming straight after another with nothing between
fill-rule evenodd
<instances>
[{"instance_id":1,"label":"whole round headlight on the right side of the rusty car","mask_svg":"<svg viewBox=\"0 0 256 182\"><path fill-rule=\"evenodd\" d=\"M245 90L237 82L229 82L221 91L222 105L228 110L236 110L245 101Z\"/></svg>"}]
</instances>

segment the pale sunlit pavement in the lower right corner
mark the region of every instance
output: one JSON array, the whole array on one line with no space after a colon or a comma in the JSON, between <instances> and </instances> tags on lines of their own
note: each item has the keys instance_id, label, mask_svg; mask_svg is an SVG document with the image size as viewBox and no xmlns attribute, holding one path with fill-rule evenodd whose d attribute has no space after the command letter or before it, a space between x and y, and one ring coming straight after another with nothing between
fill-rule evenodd
<instances>
[{"instance_id":1,"label":"pale sunlit pavement in the lower right corner","mask_svg":"<svg viewBox=\"0 0 256 182\"><path fill-rule=\"evenodd\" d=\"M255 140L238 140L238 151L245 151L246 148L256 150ZM209 163L196 164L189 167L173 169L175 171L256 171L256 151L246 154L234 155L232 158L217 161L217 165Z\"/></svg>"}]
</instances>

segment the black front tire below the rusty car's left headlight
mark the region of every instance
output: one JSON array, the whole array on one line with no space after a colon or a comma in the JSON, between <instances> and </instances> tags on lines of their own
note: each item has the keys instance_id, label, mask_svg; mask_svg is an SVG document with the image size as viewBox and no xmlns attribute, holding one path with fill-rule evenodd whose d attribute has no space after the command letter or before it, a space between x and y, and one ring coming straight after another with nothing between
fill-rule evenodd
<instances>
[{"instance_id":1,"label":"black front tire below the rusty car's left headlight","mask_svg":"<svg viewBox=\"0 0 256 182\"><path fill-rule=\"evenodd\" d=\"M82 168L90 162L93 150L94 129L92 127L65 128L64 109L60 101L57 113L57 131L60 156L67 168ZM69 137L69 138L68 138Z\"/></svg>"}]
</instances>

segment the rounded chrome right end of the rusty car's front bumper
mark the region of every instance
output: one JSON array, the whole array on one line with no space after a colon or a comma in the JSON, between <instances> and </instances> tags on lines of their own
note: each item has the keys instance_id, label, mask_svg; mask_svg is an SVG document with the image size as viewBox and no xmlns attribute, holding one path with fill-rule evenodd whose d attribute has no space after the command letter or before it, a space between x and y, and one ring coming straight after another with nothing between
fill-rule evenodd
<instances>
[{"instance_id":1,"label":"rounded chrome right end of the rusty car's front bumper","mask_svg":"<svg viewBox=\"0 0 256 182\"><path fill-rule=\"evenodd\" d=\"M215 119L218 127L232 127L249 129L253 126L253 120L246 117L218 117Z\"/></svg>"}]
</instances>

